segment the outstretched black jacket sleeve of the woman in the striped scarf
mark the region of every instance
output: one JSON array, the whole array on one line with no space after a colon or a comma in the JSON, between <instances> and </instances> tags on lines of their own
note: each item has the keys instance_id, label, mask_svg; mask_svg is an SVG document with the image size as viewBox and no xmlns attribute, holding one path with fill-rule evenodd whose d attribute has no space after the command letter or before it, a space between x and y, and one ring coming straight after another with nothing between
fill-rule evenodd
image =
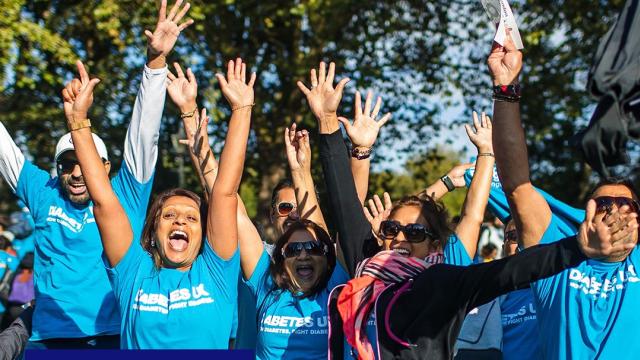
<instances>
[{"instance_id":1,"label":"outstretched black jacket sleeve of the woman in the striped scarf","mask_svg":"<svg viewBox=\"0 0 640 360\"><path fill-rule=\"evenodd\" d=\"M575 236L537 245L504 259L462 268L459 284L462 298L469 299L467 311L529 283L577 266L587 258Z\"/></svg>"}]
</instances>

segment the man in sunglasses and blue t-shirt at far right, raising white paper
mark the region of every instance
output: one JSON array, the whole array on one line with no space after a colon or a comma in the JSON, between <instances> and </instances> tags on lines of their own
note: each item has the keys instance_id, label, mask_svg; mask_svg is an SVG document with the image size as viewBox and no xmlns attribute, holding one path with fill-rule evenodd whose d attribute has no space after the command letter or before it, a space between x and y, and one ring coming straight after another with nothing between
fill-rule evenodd
<instances>
[{"instance_id":1,"label":"man in sunglasses and blue t-shirt at far right, raising white paper","mask_svg":"<svg viewBox=\"0 0 640 360\"><path fill-rule=\"evenodd\" d=\"M504 46L494 43L488 59L494 91L494 148L500 181L509 202L520 245L550 243L575 233L560 211L531 184L524 131L520 122L522 53L509 34ZM637 211L631 183L607 181L596 187L587 204L587 222L613 223L619 213ZM593 218L592 218L593 217ZM630 226L625 224L625 226ZM571 234L569 234L571 235ZM638 232L612 242L637 244ZM640 353L635 331L640 322L640 252L632 250L588 260L577 267L531 284L536 303L540 356L547 359L628 359Z\"/></svg>"}]
</instances>

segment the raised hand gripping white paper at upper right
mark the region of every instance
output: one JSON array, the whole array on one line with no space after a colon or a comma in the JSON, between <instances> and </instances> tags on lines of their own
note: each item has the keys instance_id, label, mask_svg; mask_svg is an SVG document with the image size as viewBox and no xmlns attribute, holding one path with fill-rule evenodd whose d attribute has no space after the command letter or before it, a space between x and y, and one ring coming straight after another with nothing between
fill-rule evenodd
<instances>
[{"instance_id":1,"label":"raised hand gripping white paper at upper right","mask_svg":"<svg viewBox=\"0 0 640 360\"><path fill-rule=\"evenodd\" d=\"M522 70L522 52L513 43L509 29L506 31L504 46L494 42L487 59L494 85L510 85L517 82Z\"/></svg>"}]
</instances>

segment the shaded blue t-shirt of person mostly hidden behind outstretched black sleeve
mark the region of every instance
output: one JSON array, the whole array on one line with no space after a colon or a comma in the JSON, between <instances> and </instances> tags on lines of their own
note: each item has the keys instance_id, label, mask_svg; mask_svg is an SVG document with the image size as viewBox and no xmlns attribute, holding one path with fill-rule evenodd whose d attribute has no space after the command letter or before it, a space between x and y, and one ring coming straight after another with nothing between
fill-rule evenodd
<instances>
[{"instance_id":1,"label":"shaded blue t-shirt of person mostly hidden behind outstretched black sleeve","mask_svg":"<svg viewBox=\"0 0 640 360\"><path fill-rule=\"evenodd\" d=\"M502 311L503 359L539 359L540 342L533 292L531 289L516 290L499 299Z\"/></svg>"}]
</instances>

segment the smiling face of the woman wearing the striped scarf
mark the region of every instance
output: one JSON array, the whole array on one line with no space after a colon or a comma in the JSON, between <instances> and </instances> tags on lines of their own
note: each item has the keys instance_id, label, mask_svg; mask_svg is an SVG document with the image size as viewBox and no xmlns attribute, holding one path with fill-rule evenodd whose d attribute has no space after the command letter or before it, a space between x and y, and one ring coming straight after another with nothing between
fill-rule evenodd
<instances>
[{"instance_id":1,"label":"smiling face of the woman wearing the striped scarf","mask_svg":"<svg viewBox=\"0 0 640 360\"><path fill-rule=\"evenodd\" d=\"M422 224L427 229L431 229L427 219L422 216L420 207L414 205L400 206L394 209L389 219L395 220L403 226L407 224ZM431 253L441 250L440 242L430 241L428 237L419 243L408 242L402 231L393 239L384 239L383 249L393 250L400 255L413 256L419 259L425 259Z\"/></svg>"}]
</instances>

